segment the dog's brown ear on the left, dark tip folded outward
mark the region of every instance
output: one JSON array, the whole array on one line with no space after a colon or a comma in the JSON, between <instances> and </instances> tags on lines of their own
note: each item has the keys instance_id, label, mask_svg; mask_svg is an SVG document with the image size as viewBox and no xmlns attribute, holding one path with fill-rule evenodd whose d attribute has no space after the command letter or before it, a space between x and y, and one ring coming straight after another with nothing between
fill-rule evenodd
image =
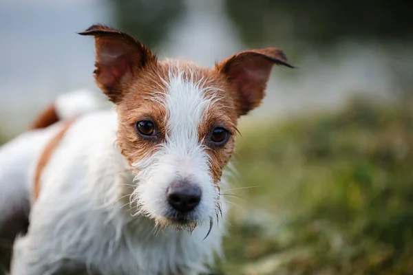
<instances>
[{"instance_id":1,"label":"dog's brown ear on the left, dark tip folded outward","mask_svg":"<svg viewBox=\"0 0 413 275\"><path fill-rule=\"evenodd\" d=\"M122 90L134 74L149 63L156 62L156 55L145 45L118 30L92 25L79 34L94 36L96 83L112 102L122 98Z\"/></svg>"}]
</instances>

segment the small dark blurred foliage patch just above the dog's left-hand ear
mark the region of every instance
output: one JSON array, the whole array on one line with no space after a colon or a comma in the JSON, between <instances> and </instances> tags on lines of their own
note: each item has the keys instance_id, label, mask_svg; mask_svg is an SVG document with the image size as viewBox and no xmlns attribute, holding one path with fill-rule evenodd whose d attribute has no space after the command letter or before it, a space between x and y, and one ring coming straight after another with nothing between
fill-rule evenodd
<instances>
[{"instance_id":1,"label":"small dark blurred foliage patch just above the dog's left-hand ear","mask_svg":"<svg viewBox=\"0 0 413 275\"><path fill-rule=\"evenodd\" d=\"M116 27L155 47L184 9L183 0L107 0L112 4Z\"/></svg>"}]
</instances>

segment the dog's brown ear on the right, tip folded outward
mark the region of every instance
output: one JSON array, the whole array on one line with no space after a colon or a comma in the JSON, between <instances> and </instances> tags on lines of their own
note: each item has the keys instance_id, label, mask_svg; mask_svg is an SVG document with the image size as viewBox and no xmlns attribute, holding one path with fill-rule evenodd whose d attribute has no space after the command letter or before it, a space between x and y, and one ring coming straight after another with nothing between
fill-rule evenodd
<instances>
[{"instance_id":1,"label":"dog's brown ear on the right, tip folded outward","mask_svg":"<svg viewBox=\"0 0 413 275\"><path fill-rule=\"evenodd\" d=\"M293 68L282 50L275 47L239 52L215 65L237 92L238 115L260 105L274 64Z\"/></svg>"}]
</instances>

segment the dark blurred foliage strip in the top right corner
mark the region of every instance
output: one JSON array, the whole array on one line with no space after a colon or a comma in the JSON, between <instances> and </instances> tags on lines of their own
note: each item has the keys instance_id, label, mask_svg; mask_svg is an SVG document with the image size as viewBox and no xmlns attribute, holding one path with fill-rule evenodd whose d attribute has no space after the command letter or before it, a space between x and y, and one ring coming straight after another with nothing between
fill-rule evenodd
<instances>
[{"instance_id":1,"label":"dark blurred foliage strip in the top right corner","mask_svg":"<svg viewBox=\"0 0 413 275\"><path fill-rule=\"evenodd\" d=\"M246 43L299 39L316 44L352 39L412 39L412 1L226 0Z\"/></svg>"}]
</instances>

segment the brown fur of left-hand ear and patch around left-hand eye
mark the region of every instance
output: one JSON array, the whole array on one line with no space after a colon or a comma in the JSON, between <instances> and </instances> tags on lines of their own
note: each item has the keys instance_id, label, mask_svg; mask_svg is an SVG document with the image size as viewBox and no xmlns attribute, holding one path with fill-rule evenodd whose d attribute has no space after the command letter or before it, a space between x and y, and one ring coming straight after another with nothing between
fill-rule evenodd
<instances>
[{"instance_id":1,"label":"brown fur of left-hand ear and patch around left-hand eye","mask_svg":"<svg viewBox=\"0 0 413 275\"><path fill-rule=\"evenodd\" d=\"M96 83L116 103L118 146L129 164L134 164L154 153L165 139L166 110L153 96L162 91L156 55L133 37L104 25L92 25L81 34L95 38ZM136 122L142 120L156 123L156 138L137 133Z\"/></svg>"}]
</instances>

